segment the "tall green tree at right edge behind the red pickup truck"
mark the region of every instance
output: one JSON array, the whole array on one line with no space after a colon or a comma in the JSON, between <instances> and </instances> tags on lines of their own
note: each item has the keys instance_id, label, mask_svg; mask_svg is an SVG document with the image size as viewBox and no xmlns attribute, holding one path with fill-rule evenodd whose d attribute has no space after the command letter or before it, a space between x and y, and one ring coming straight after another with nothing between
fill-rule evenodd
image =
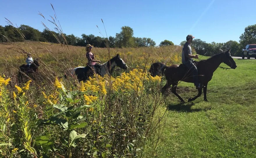
<instances>
[{"instance_id":1,"label":"tall green tree at right edge behind the red pickup truck","mask_svg":"<svg viewBox=\"0 0 256 158\"><path fill-rule=\"evenodd\" d=\"M248 44L256 44L256 24L249 25L240 36L240 50Z\"/></svg>"}]
</instances>

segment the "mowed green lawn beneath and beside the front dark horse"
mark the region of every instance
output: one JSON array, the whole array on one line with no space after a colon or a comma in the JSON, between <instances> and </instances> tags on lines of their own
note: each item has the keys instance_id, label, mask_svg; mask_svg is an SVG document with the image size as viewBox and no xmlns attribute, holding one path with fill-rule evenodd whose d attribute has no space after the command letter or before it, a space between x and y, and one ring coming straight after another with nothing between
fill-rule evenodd
<instances>
[{"instance_id":1,"label":"mowed green lawn beneath and beside the front dark horse","mask_svg":"<svg viewBox=\"0 0 256 158\"><path fill-rule=\"evenodd\" d=\"M177 90L186 103L168 96L169 113L155 157L256 157L256 60L234 60L236 69L214 72L209 102L202 94L187 103L197 94L192 83L182 82Z\"/></svg>"}]
</instances>

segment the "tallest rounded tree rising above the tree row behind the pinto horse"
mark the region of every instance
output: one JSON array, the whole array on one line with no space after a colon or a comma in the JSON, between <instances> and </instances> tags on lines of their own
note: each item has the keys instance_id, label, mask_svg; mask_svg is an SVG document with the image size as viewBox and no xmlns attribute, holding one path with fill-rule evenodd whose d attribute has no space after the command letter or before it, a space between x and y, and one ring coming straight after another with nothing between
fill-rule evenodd
<instances>
[{"instance_id":1,"label":"tallest rounded tree rising above the tree row behind the pinto horse","mask_svg":"<svg viewBox=\"0 0 256 158\"><path fill-rule=\"evenodd\" d=\"M121 47L134 47L135 39L133 37L134 33L131 27L123 26L121 27L121 32L115 35L116 43L115 45L119 48Z\"/></svg>"}]
</instances>

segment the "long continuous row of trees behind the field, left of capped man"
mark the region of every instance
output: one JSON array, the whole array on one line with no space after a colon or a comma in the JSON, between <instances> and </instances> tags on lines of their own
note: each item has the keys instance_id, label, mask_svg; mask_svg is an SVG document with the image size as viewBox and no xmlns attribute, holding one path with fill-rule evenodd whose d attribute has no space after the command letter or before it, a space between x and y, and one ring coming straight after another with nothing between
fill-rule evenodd
<instances>
[{"instance_id":1,"label":"long continuous row of trees behind the field, left of capped man","mask_svg":"<svg viewBox=\"0 0 256 158\"><path fill-rule=\"evenodd\" d=\"M40 41L40 42L50 42L50 43L64 43L65 37L68 45L74 46L86 46L87 44L94 45L95 47L106 47L105 43L109 43L110 47L149 47L156 46L156 43L151 38L140 38L134 37L133 29L129 26L121 27L121 32L116 33L116 36L109 36L109 38L103 38L100 36L94 36L93 34L82 34L81 37L74 36L74 34L61 35L58 32L50 31L44 29L42 32L30 27L28 25L20 25L20 27L15 28L11 25L6 25L5 27L0 25L0 42L5 42L5 38L12 42L24 41L24 38L19 34L19 32L24 35L24 38L29 41ZM59 41L56 39L59 39Z\"/></svg>"}]
</instances>

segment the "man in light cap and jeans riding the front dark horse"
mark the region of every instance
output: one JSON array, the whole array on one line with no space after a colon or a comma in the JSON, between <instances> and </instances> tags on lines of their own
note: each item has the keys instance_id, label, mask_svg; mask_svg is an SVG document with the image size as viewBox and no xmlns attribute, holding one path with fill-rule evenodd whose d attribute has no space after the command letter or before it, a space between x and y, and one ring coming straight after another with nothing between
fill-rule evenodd
<instances>
[{"instance_id":1,"label":"man in light cap and jeans riding the front dark horse","mask_svg":"<svg viewBox=\"0 0 256 158\"><path fill-rule=\"evenodd\" d=\"M193 58L198 59L198 55L192 55L192 49L190 43L193 41L194 36L189 34L186 37L187 42L182 47L182 64L186 65L192 71L194 85L196 89L202 88L202 85L198 81L198 70L193 63Z\"/></svg>"}]
</instances>

